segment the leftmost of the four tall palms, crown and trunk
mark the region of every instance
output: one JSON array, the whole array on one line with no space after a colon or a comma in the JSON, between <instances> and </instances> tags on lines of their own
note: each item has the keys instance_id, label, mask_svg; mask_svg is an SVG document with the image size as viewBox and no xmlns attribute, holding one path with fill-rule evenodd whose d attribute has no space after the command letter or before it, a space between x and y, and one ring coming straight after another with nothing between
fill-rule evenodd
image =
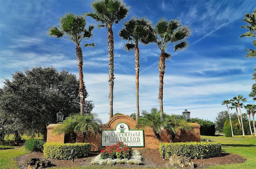
<instances>
[{"instance_id":1,"label":"leftmost of the four tall palms, crown and trunk","mask_svg":"<svg viewBox=\"0 0 256 169\"><path fill-rule=\"evenodd\" d=\"M60 18L60 28L52 26L48 30L48 35L55 36L56 38L63 38L66 36L68 40L76 44L76 58L78 62L79 72L79 97L80 97L80 113L84 114L84 99L87 95L84 87L84 75L83 75L83 54L80 43L83 39L87 40L92 37L93 25L89 25L88 29L86 26L85 16L77 16L74 14L65 14L64 17ZM84 47L94 47L94 44L85 44Z\"/></svg>"}]
</instances>

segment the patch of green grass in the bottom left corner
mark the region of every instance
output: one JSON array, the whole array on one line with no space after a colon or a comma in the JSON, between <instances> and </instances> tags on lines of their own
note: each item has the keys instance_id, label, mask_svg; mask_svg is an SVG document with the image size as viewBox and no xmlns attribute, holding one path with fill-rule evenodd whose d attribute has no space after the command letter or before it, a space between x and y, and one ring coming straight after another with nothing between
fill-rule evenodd
<instances>
[{"instance_id":1,"label":"patch of green grass in the bottom left corner","mask_svg":"<svg viewBox=\"0 0 256 169\"><path fill-rule=\"evenodd\" d=\"M0 150L0 169L19 169L14 159L26 154L23 148Z\"/></svg>"}]
</instances>

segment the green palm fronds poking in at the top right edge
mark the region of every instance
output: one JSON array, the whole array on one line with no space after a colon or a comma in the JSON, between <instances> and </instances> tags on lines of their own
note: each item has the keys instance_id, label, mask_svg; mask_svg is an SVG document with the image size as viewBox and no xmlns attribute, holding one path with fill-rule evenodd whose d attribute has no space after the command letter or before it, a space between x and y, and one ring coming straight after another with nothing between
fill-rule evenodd
<instances>
[{"instance_id":1,"label":"green palm fronds poking in at the top right edge","mask_svg":"<svg viewBox=\"0 0 256 169\"><path fill-rule=\"evenodd\" d=\"M244 36L247 37L247 38L252 38L252 37L255 38L255 32L256 32L256 8L252 12L252 14L245 14L243 21L247 22L248 25L241 26L241 28L246 28L249 31L245 32L244 34L242 34L240 36L240 38L242 38ZM256 47L256 40L253 40L252 44L253 44L254 47ZM245 56L246 58L256 58L256 50L246 49L245 51L248 51L248 53Z\"/></svg>"}]
</instances>

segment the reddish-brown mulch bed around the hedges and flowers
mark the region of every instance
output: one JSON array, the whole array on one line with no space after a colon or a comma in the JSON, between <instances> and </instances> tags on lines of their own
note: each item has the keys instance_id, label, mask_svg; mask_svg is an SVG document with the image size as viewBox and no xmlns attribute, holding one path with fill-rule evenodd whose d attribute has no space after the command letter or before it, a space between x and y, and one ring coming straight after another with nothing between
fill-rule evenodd
<instances>
[{"instance_id":1,"label":"reddish-brown mulch bed around the hedges and flowers","mask_svg":"<svg viewBox=\"0 0 256 169\"><path fill-rule=\"evenodd\" d=\"M162 159L162 156L158 152L158 149L148 149L143 148L139 149L142 158L143 165L130 165L130 164L116 164L115 167L120 168L146 168L146 167L172 167L169 165L169 159ZM77 166L100 166L100 165L91 165L90 162L98 154L90 154L88 157L75 159L74 163L71 160L56 160L49 159L53 164L52 168L56 167L77 167ZM43 153L32 152L20 157L17 157L15 161L21 169L26 169L28 161L32 158L44 159ZM234 163L243 163L246 159L240 155L229 154L222 152L221 157L214 157L209 159L192 159L195 169L203 169L208 166L213 165L224 165L224 164L234 164ZM111 167L111 165L104 165L106 167Z\"/></svg>"}]
</instances>

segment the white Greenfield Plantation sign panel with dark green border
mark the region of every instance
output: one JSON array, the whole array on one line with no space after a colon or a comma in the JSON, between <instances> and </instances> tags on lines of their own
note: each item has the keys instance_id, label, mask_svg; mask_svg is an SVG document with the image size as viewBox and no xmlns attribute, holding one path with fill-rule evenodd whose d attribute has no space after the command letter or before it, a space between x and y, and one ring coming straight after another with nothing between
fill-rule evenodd
<instances>
[{"instance_id":1,"label":"white Greenfield Plantation sign panel with dark green border","mask_svg":"<svg viewBox=\"0 0 256 169\"><path fill-rule=\"evenodd\" d=\"M131 147L144 147L144 132L143 130L130 130L126 123L118 123L115 130L102 130L102 146L110 146L119 141Z\"/></svg>"}]
</instances>

